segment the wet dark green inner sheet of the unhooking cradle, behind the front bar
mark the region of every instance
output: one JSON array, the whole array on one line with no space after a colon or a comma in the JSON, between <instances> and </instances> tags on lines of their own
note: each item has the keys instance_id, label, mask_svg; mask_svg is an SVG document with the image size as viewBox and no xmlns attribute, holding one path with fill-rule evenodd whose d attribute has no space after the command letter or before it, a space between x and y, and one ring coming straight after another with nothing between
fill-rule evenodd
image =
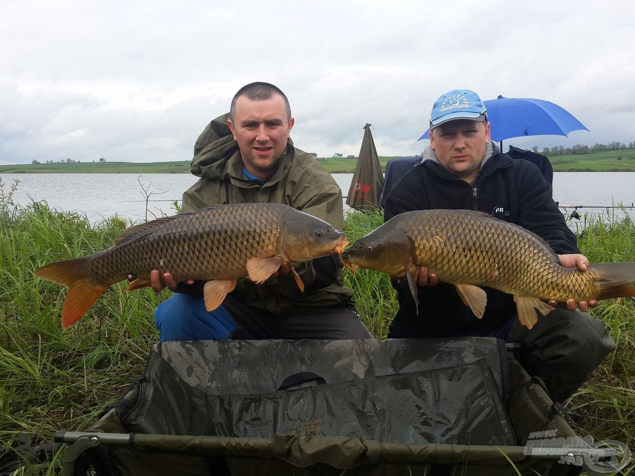
<instances>
[{"instance_id":1,"label":"wet dark green inner sheet of the unhooking cradle, behind the front bar","mask_svg":"<svg viewBox=\"0 0 635 476\"><path fill-rule=\"evenodd\" d=\"M135 433L512 445L495 340L195 341L150 354ZM307 387L307 385L309 385Z\"/></svg>"}]
</instances>

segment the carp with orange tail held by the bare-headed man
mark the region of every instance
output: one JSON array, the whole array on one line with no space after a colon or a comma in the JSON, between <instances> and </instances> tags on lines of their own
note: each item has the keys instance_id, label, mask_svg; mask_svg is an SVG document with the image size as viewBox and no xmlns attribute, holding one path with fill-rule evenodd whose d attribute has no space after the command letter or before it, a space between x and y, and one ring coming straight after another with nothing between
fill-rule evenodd
<instances>
[{"instance_id":1,"label":"carp with orange tail held by the bare-headed man","mask_svg":"<svg viewBox=\"0 0 635 476\"><path fill-rule=\"evenodd\" d=\"M62 327L86 314L97 298L129 274L128 288L150 286L150 271L170 272L175 280L210 280L204 286L207 310L214 310L249 276L261 284L283 261L304 291L293 266L332 253L349 242L326 221L282 204L215 205L131 227L112 248L95 255L58 261L35 274L69 286Z\"/></svg>"}]
</instances>

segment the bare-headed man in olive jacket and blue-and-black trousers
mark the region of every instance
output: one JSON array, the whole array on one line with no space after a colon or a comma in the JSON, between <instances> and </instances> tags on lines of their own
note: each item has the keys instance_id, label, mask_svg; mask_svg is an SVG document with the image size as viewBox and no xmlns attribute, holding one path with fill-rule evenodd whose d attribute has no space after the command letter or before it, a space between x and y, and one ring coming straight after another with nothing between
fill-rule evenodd
<instances>
[{"instance_id":1,"label":"bare-headed man in olive jacket and blue-and-black trousers","mask_svg":"<svg viewBox=\"0 0 635 476\"><path fill-rule=\"evenodd\" d=\"M311 155L289 138L294 119L282 91L251 83L231 112L208 124L194 146L191 171L201 177L183 195L182 212L212 204L283 203L343 227L342 192ZM335 256L300 265L298 289L288 263L264 284L239 279L217 310L204 309L201 287L152 272L152 288L177 294L155 312L161 341L224 338L370 338L343 286Z\"/></svg>"}]
</instances>

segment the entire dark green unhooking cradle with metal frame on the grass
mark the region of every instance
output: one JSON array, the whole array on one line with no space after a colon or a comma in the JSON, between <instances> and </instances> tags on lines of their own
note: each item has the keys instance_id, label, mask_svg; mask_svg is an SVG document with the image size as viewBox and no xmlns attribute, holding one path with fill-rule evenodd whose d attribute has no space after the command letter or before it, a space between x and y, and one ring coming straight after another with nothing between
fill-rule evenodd
<instances>
[{"instance_id":1,"label":"entire dark green unhooking cradle with metal frame on the grass","mask_svg":"<svg viewBox=\"0 0 635 476\"><path fill-rule=\"evenodd\" d=\"M577 474L525 452L574 435L551 405L493 338L168 342L58 440L84 439L75 476Z\"/></svg>"}]
</instances>

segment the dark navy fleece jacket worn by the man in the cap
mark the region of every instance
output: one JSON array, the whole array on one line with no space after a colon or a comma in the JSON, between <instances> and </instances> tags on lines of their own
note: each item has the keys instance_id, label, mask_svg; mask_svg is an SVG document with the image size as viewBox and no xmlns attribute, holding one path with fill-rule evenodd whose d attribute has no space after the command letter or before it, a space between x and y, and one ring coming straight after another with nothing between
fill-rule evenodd
<instances>
[{"instance_id":1,"label":"dark navy fleece jacket worn by the man in the cap","mask_svg":"<svg viewBox=\"0 0 635 476\"><path fill-rule=\"evenodd\" d=\"M424 160L392 188L385 201L384 220L411 210L474 209L521 225L542 237L560 255L580 253L575 235L552 199L551 185L538 168L531 162L500 154L497 149L484 161L473 183L451 175L434 154L424 153ZM477 319L462 303L454 286L440 282L431 288L418 288L417 316L406 280L393 281L393 286L399 296L399 312L389 334L393 338L486 332L516 314L511 294L484 287L487 307L483 319Z\"/></svg>"}]
</instances>

